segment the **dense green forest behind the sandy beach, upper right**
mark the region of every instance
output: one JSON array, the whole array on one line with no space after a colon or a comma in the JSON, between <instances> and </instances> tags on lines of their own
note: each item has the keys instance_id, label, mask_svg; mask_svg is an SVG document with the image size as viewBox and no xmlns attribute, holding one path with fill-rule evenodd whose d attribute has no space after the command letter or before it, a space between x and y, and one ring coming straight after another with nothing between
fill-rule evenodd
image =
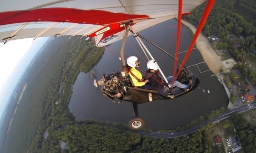
<instances>
[{"instance_id":1,"label":"dense green forest behind the sandy beach, upper right","mask_svg":"<svg viewBox=\"0 0 256 153\"><path fill-rule=\"evenodd\" d=\"M255 49L256 27L253 23L245 20L243 16L234 11L238 3L241 2L239 0L216 0L212 12L204 26L203 33L205 36L217 34L222 40L220 43L223 43L223 49L229 48L231 52L240 59L239 54L241 54L242 51L252 51ZM248 1L247 3L255 2ZM247 3L244 5L249 5ZM206 3L196 8L189 16L189 22L193 25L198 26L205 4ZM234 42L230 40L229 36L231 33L243 37L240 40L241 46L239 46L239 49L242 50L239 52L235 52L236 46Z\"/></svg>"}]
</instances>

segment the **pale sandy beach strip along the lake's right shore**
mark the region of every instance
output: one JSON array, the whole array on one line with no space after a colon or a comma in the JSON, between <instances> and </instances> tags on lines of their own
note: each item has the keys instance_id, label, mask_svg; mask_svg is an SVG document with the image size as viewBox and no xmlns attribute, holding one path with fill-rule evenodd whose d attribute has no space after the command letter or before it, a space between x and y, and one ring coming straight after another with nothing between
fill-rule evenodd
<instances>
[{"instance_id":1,"label":"pale sandy beach strip along the lake's right shore","mask_svg":"<svg viewBox=\"0 0 256 153\"><path fill-rule=\"evenodd\" d=\"M192 30L192 32L195 34L196 28L192 24L184 20L182 20L182 23L188 26ZM209 43L209 40L203 34L200 34L198 36L196 45L198 47L198 50L202 54L204 61L206 62L209 69L214 74L219 72L219 69L221 66L223 67L223 69L225 69L224 65L221 62L221 57L215 53L211 44Z\"/></svg>"}]
</instances>

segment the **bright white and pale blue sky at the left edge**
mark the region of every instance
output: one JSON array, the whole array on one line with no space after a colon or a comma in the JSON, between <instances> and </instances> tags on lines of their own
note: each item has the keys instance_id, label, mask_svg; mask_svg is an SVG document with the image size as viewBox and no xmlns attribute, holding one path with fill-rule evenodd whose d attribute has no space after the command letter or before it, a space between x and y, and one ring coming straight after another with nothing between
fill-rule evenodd
<instances>
[{"instance_id":1,"label":"bright white and pale blue sky at the left edge","mask_svg":"<svg viewBox=\"0 0 256 153\"><path fill-rule=\"evenodd\" d=\"M21 76L49 37L0 43L0 119Z\"/></svg>"}]
</instances>

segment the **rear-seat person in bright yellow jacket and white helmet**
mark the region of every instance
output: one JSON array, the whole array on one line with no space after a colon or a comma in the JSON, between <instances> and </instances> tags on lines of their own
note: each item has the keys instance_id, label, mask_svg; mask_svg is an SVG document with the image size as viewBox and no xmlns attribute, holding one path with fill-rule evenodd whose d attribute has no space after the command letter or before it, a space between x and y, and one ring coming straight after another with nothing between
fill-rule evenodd
<instances>
[{"instance_id":1,"label":"rear-seat person in bright yellow jacket and white helmet","mask_svg":"<svg viewBox=\"0 0 256 153\"><path fill-rule=\"evenodd\" d=\"M138 59L135 56L130 56L126 60L128 67L128 74L131 77L131 80L134 84L134 86L145 88L145 89L150 89L151 85L146 85L148 82L148 79L145 79L142 81L143 77L140 71L136 69L136 67L140 66L140 59Z\"/></svg>"}]
</instances>

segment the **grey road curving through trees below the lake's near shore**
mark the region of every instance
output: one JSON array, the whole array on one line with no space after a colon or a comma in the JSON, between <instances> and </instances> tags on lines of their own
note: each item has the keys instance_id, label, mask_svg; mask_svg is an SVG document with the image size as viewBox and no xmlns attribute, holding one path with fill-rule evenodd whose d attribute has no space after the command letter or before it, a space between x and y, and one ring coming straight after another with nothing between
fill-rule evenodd
<instances>
[{"instance_id":1,"label":"grey road curving through trees below the lake's near shore","mask_svg":"<svg viewBox=\"0 0 256 153\"><path fill-rule=\"evenodd\" d=\"M188 129L185 129L185 130L182 130L182 131L178 131L178 132L173 132L173 133L152 133L152 132L150 133L150 132L143 132L143 131L133 131L133 132L140 133L140 134L145 135L145 136L150 136L152 138L163 138L163 139L170 139L170 138L185 136L187 134L196 132L198 129L200 129L201 127L207 125L210 122L219 122L221 120L227 119L235 111L238 111L238 113L243 113L243 112L246 112L246 111L249 111L251 109L256 108L256 102L251 103L251 105L254 105L255 107L249 109L247 107L247 105L246 105L246 106L243 106L243 107L240 107L240 108L236 108L236 109L227 111L225 113L222 113L222 114L220 114L219 116L215 117L212 120L209 120L209 121L206 121L206 122L202 122L199 125L196 125L194 127L191 127L191 128L188 128Z\"/></svg>"}]
</instances>

